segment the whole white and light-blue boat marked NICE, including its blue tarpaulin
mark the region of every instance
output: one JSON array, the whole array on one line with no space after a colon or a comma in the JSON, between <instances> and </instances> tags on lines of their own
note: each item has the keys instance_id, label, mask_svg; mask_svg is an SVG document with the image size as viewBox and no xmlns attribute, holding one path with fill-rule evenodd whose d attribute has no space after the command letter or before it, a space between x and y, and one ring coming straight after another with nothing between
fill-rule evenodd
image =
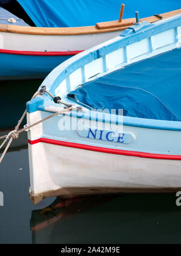
<instances>
[{"instance_id":1,"label":"whole white and light-blue boat marked NICE, including its blue tarpaulin","mask_svg":"<svg viewBox=\"0 0 181 256\"><path fill-rule=\"evenodd\" d=\"M46 77L27 103L29 126L59 113L28 131L34 203L181 188L180 47L181 15L137 17Z\"/></svg>"}]
</instances>

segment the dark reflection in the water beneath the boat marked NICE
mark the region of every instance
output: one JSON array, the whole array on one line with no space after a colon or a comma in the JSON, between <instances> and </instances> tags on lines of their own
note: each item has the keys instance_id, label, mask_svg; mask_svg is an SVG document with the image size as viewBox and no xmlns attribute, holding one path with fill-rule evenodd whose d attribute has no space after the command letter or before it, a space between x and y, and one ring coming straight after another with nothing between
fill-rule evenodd
<instances>
[{"instance_id":1,"label":"dark reflection in the water beneath the boat marked NICE","mask_svg":"<svg viewBox=\"0 0 181 256\"><path fill-rule=\"evenodd\" d=\"M56 199L31 215L33 243L180 243L175 195Z\"/></svg>"}]
</instances>

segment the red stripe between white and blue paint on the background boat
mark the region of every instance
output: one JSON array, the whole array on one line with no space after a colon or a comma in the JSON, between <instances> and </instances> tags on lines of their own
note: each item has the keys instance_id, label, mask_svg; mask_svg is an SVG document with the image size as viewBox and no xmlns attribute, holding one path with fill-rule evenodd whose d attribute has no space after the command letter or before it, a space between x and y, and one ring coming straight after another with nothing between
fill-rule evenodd
<instances>
[{"instance_id":1,"label":"red stripe between white and blue paint on the background boat","mask_svg":"<svg viewBox=\"0 0 181 256\"><path fill-rule=\"evenodd\" d=\"M73 56L81 51L14 51L0 49L0 53L19 54L19 55L33 55L33 56Z\"/></svg>"}]
</instances>

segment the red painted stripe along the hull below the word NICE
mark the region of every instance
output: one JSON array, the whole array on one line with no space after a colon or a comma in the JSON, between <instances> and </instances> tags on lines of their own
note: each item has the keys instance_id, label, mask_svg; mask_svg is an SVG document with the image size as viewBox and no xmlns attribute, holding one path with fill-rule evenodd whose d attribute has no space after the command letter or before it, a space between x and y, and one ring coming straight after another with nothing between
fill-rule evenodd
<instances>
[{"instance_id":1,"label":"red painted stripe along the hull below the word NICE","mask_svg":"<svg viewBox=\"0 0 181 256\"><path fill-rule=\"evenodd\" d=\"M152 154L152 153L128 151L128 150L113 149L113 148L101 148L100 146L90 146L90 145L85 145L80 143L63 142L60 140L52 140L52 139L46 139L46 138L40 138L37 140L28 140L28 143L30 143L31 145L34 145L39 142L50 143L50 144L60 145L60 146L69 146L71 148L80 148L80 149L86 149L86 150L109 153L109 154L120 154L124 156L145 157L145 158L151 158L151 159L181 160L181 156L176 156L176 155Z\"/></svg>"}]
</instances>

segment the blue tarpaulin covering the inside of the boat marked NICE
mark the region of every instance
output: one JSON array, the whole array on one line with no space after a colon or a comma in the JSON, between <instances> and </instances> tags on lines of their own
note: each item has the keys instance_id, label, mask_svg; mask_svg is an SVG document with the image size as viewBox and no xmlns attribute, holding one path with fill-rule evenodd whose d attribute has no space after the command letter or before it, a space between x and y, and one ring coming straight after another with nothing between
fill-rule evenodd
<instances>
[{"instance_id":1,"label":"blue tarpaulin covering the inside of the boat marked NICE","mask_svg":"<svg viewBox=\"0 0 181 256\"><path fill-rule=\"evenodd\" d=\"M181 120L181 49L148 58L87 82L68 94L95 110Z\"/></svg>"}]
</instances>

